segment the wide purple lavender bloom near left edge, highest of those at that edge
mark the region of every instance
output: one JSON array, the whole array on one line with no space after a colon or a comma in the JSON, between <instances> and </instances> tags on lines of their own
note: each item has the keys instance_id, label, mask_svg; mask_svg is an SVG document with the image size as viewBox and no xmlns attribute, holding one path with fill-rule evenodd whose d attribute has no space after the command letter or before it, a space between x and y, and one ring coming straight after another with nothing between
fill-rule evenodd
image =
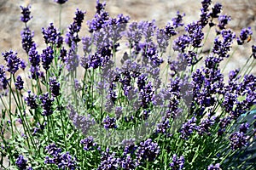
<instances>
[{"instance_id":1,"label":"wide purple lavender bloom near left edge, highest of those at that edge","mask_svg":"<svg viewBox=\"0 0 256 170\"><path fill-rule=\"evenodd\" d=\"M17 53L9 50L9 52L2 53L2 55L7 62L7 71L14 75L20 66L20 58L17 57Z\"/></svg>"}]
</instances>

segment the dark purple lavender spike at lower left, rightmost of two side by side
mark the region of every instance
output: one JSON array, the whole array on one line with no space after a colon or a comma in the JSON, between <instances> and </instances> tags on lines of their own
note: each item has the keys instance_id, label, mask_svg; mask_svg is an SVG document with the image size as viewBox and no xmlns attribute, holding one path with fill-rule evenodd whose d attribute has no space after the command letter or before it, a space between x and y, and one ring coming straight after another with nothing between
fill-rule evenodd
<instances>
[{"instance_id":1,"label":"dark purple lavender spike at lower left, rightmost of two side by side","mask_svg":"<svg viewBox=\"0 0 256 170\"><path fill-rule=\"evenodd\" d=\"M54 101L54 99L53 98L50 99L48 93L39 96L39 99L41 100L42 107L44 109L42 115L50 116L51 114L53 114L52 102Z\"/></svg>"}]
</instances>

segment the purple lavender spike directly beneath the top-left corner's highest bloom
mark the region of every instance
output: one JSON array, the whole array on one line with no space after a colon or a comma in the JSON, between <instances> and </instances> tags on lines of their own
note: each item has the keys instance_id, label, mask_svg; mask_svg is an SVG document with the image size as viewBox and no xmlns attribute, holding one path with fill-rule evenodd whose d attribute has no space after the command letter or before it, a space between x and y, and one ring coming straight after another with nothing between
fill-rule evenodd
<instances>
[{"instance_id":1,"label":"purple lavender spike directly beneath the top-left corner's highest bloom","mask_svg":"<svg viewBox=\"0 0 256 170\"><path fill-rule=\"evenodd\" d=\"M30 31L28 27L26 27L23 29L23 31L21 31L20 36L22 48L26 51L26 54L28 54L30 48L32 48L32 45L34 43L34 41L32 40L32 38L34 37L34 33Z\"/></svg>"}]
</instances>

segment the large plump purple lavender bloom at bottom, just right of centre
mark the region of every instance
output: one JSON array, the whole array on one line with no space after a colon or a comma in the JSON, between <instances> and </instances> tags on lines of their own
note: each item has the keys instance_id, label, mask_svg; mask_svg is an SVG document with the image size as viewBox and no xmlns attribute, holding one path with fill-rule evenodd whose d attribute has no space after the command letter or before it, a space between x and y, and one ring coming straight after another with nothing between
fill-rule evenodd
<instances>
[{"instance_id":1,"label":"large plump purple lavender bloom at bottom, just right of centre","mask_svg":"<svg viewBox=\"0 0 256 170\"><path fill-rule=\"evenodd\" d=\"M154 143L152 139L141 142L136 150L137 163L141 161L154 161L160 153L160 146Z\"/></svg>"}]
</instances>

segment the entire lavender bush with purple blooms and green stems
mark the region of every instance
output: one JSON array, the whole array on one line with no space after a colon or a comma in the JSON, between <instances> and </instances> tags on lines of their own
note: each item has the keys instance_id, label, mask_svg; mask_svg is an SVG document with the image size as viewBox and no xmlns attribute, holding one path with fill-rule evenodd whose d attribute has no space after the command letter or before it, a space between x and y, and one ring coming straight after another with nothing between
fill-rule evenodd
<instances>
[{"instance_id":1,"label":"entire lavender bush with purple blooms and green stems","mask_svg":"<svg viewBox=\"0 0 256 170\"><path fill-rule=\"evenodd\" d=\"M3 169L253 169L256 137L256 46L229 75L223 63L253 32L239 35L220 3L201 2L199 20L177 12L155 21L112 17L96 1L67 31L49 23L38 52L31 6L20 7L22 48L0 65ZM210 32L215 39L205 50ZM250 42L251 43L251 42ZM79 54L82 48L83 54Z\"/></svg>"}]
</instances>

